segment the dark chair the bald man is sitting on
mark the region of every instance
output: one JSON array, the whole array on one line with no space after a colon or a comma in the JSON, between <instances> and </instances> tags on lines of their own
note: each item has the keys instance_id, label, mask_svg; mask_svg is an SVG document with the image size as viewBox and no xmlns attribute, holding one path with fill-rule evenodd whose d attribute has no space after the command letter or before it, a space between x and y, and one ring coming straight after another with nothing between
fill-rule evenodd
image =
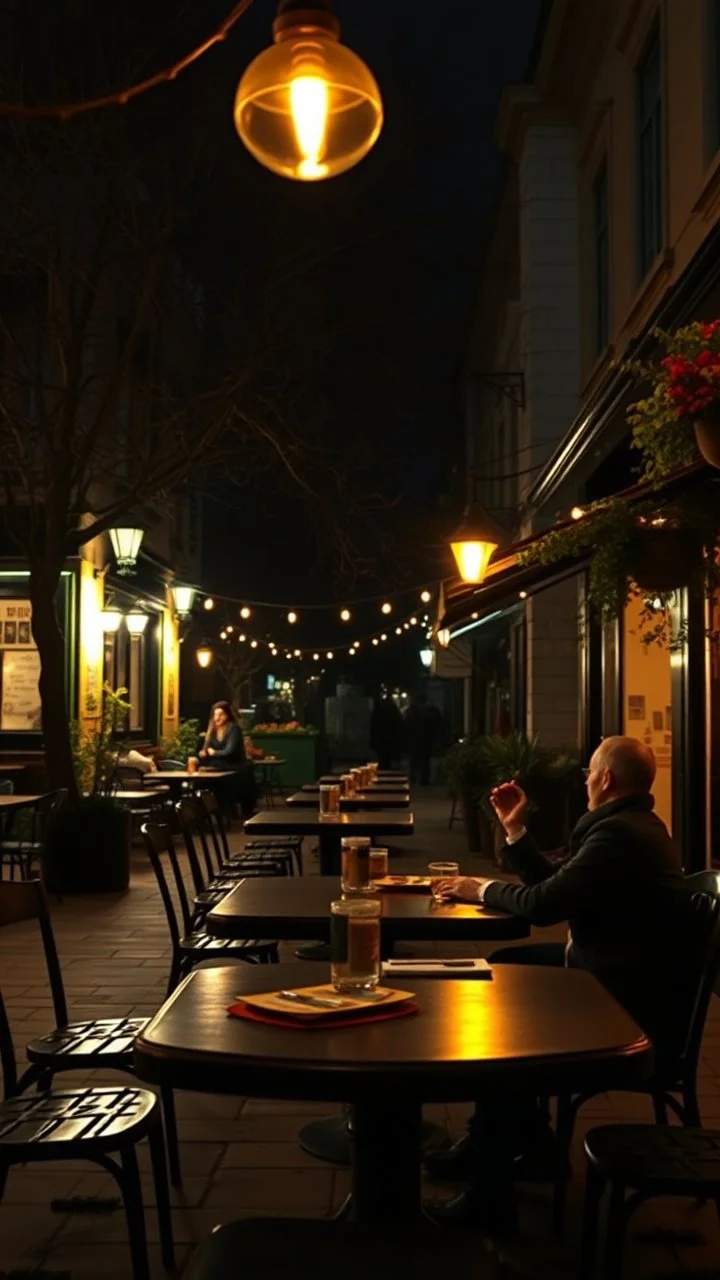
<instances>
[{"instance_id":1,"label":"dark chair the bald man is sitting on","mask_svg":"<svg viewBox=\"0 0 720 1280\"><path fill-rule=\"evenodd\" d=\"M697 1100L697 1065L720 963L720 897L693 893L685 950L687 972L682 1001L674 1011L669 1009L667 1012L669 1020L674 1018L676 1023L675 1027L669 1027L669 1033L678 1047L666 1055L669 1061L660 1071L633 1092L650 1094L659 1125L667 1124L670 1110L685 1128L700 1128L702 1120ZM597 1092L594 1089L575 1097L561 1094L557 1100L556 1135L568 1161L578 1111ZM675 1094L680 1094L680 1101ZM559 1234L565 1225L565 1201L566 1178L562 1175L555 1184L553 1196L553 1228Z\"/></svg>"}]
</instances>

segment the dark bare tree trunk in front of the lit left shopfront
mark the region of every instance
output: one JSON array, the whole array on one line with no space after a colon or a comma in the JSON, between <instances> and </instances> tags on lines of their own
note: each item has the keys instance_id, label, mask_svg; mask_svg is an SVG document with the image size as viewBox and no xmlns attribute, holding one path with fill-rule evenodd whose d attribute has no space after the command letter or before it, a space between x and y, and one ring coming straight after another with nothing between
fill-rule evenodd
<instances>
[{"instance_id":1,"label":"dark bare tree trunk in front of the lit left shopfront","mask_svg":"<svg viewBox=\"0 0 720 1280\"><path fill-rule=\"evenodd\" d=\"M60 563L37 564L31 561L29 598L32 635L40 654L38 687L47 782L53 788L67 787L70 800L74 800L78 791L65 692L65 637L55 608L60 568Z\"/></svg>"}]
</instances>

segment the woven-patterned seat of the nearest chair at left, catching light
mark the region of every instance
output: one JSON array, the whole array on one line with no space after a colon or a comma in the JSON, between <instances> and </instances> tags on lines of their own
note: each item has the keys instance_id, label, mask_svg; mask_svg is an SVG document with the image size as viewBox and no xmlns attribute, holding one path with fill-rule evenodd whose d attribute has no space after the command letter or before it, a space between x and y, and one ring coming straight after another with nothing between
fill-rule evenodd
<instances>
[{"instance_id":1,"label":"woven-patterned seat of the nearest chair at left, catching light","mask_svg":"<svg viewBox=\"0 0 720 1280\"><path fill-rule=\"evenodd\" d=\"M23 1094L0 1102L0 1162L82 1158L77 1148L95 1151L145 1137L158 1098L149 1089L68 1089Z\"/></svg>"}]
</instances>

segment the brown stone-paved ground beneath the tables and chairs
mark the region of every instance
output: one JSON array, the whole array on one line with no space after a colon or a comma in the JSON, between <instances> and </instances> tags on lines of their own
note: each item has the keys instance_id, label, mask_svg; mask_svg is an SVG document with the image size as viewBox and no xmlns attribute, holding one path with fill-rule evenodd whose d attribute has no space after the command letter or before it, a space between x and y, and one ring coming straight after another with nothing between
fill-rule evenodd
<instances>
[{"instance_id":1,"label":"brown stone-paved ground beneath the tables and chairs","mask_svg":"<svg viewBox=\"0 0 720 1280\"><path fill-rule=\"evenodd\" d=\"M421 869L432 858L456 858L461 870L487 873L489 865L465 852L461 824L448 832L450 801L441 788L414 797L416 835L402 844L393 865ZM240 837L236 837L240 844ZM401 842L397 842L401 849ZM316 872L311 850L306 872ZM132 887L126 895L67 899L53 905L53 919L65 978L70 1016L82 1018L152 1014L161 1004L169 965L168 931L159 895L136 850ZM548 936L548 931L544 931ZM551 934L552 936L552 934ZM560 934L561 936L561 931ZM404 947L404 951L410 950ZM432 947L418 946L414 954ZM468 952L468 947L456 947ZM292 957L293 947L283 947ZM482 948L478 948L482 951ZM51 1001L42 965L40 938L32 924L0 931L0 986L8 1002L18 1057L24 1043L51 1023ZM92 1080L118 1076L100 1073ZM90 1078L63 1076L70 1085ZM705 1124L720 1129L720 1002L712 1002L700 1076ZM218 1098L178 1094L184 1187L173 1193L176 1242L182 1265L193 1242L220 1221L240 1216L288 1215L323 1217L340 1206L347 1192L345 1170L306 1156L297 1144L299 1129L309 1115L328 1115L332 1105L273 1102L258 1098ZM428 1117L459 1135L469 1107L436 1106ZM575 1275L577 1230L582 1196L582 1137L592 1125L623 1119L651 1120L643 1100L611 1094L594 1100L582 1112L578 1128L571 1189L571 1228L557 1244L550 1231L547 1188L520 1188L523 1234L511 1254L538 1280L564 1280ZM147 1160L141 1151L147 1172ZM152 1204L145 1180L146 1204ZM428 1187L428 1194L436 1189ZM55 1213L51 1199L68 1196L114 1196L110 1178L81 1164L15 1169L0 1206L0 1277L13 1268L32 1272L42 1267L63 1280L129 1280L126 1224L122 1211L108 1213ZM152 1276L164 1275L158 1251L152 1208L147 1208ZM691 1202L659 1201L639 1211L628 1240L625 1276L691 1276L708 1280L720 1275L720 1233L712 1207ZM470 1274L470 1270L469 1270ZM411 1277L410 1277L411 1280Z\"/></svg>"}]
</instances>

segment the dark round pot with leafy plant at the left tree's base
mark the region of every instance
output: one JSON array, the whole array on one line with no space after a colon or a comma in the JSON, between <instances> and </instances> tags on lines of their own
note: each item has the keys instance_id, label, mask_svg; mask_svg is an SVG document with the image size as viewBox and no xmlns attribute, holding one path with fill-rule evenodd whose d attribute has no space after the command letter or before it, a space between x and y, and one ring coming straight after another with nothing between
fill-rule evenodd
<instances>
[{"instance_id":1,"label":"dark round pot with leafy plant at the left tree's base","mask_svg":"<svg viewBox=\"0 0 720 1280\"><path fill-rule=\"evenodd\" d=\"M70 726L79 800L55 815L45 849L47 884L60 893L106 893L129 884L132 814L111 795L122 750L117 731L129 712L126 694L105 685L96 726Z\"/></svg>"}]
</instances>

